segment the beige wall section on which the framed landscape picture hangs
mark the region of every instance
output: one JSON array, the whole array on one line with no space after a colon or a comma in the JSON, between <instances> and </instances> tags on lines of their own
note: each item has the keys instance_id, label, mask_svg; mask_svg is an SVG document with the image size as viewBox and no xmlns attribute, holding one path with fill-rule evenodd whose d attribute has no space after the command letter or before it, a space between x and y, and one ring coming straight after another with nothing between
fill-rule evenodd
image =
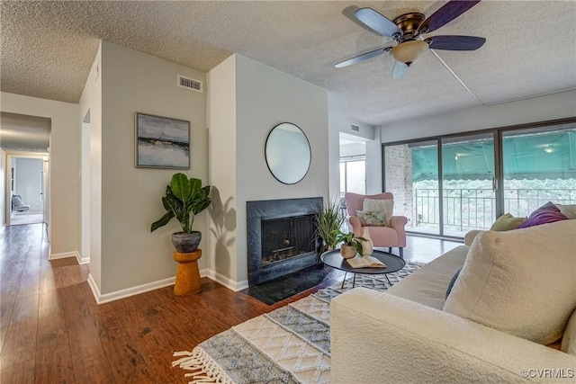
<instances>
[{"instance_id":1,"label":"beige wall section on which the framed landscape picture hangs","mask_svg":"<svg viewBox=\"0 0 576 384\"><path fill-rule=\"evenodd\" d=\"M173 174L183 172L206 183L208 135L206 94L176 86L178 74L205 82L204 73L108 42L102 43L101 60L102 276L99 289L104 295L174 277L176 263L171 235L180 231L180 226L173 220L150 233L150 225L166 212L161 197ZM136 112L190 121L190 170L134 166ZM92 126L94 110L90 113ZM92 145L98 147L98 143L91 141ZM206 222L207 213L202 212L193 228L205 236ZM203 244L206 243L202 242L201 248ZM201 269L207 265L206 259L200 259Z\"/></svg>"}]
</instances>

